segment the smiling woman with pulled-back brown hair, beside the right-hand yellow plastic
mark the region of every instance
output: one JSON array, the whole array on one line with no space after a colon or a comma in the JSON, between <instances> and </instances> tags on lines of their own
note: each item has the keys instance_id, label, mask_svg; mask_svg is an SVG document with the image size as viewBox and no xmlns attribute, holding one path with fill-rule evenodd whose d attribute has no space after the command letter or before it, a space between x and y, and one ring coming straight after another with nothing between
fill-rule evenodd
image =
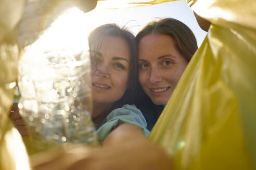
<instances>
[{"instance_id":1,"label":"smiling woman with pulled-back brown hair, beside the right-hand yellow plastic","mask_svg":"<svg viewBox=\"0 0 256 170\"><path fill-rule=\"evenodd\" d=\"M187 25L173 18L149 22L135 40L138 80L144 93L142 101L156 111L148 112L145 103L137 107L147 120L147 129L151 130L196 52L197 41Z\"/></svg>"}]
</instances>

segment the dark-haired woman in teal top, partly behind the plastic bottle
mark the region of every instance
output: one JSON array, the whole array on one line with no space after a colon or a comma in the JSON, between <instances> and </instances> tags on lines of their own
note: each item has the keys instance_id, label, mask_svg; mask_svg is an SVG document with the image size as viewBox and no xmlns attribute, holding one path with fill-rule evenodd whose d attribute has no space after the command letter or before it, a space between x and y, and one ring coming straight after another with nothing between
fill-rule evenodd
<instances>
[{"instance_id":1,"label":"dark-haired woman in teal top, partly behind the plastic bottle","mask_svg":"<svg viewBox=\"0 0 256 170\"><path fill-rule=\"evenodd\" d=\"M134 35L116 24L105 24L89 34L93 114L100 141L122 123L140 127L146 120L135 105L137 62ZM139 129L139 131L141 131Z\"/></svg>"}]
</instances>

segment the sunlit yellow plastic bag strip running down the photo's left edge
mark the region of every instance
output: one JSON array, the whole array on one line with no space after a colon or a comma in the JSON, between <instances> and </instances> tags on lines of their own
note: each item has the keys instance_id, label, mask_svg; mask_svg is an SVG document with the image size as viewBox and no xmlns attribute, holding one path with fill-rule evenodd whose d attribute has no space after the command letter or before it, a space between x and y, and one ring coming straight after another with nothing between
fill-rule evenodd
<instances>
[{"instance_id":1,"label":"sunlit yellow plastic bag strip running down the photo's left edge","mask_svg":"<svg viewBox=\"0 0 256 170\"><path fill-rule=\"evenodd\" d=\"M21 136L8 118L19 58L15 26L21 17L23 5L22 0L0 1L0 170L30 169Z\"/></svg>"}]
</instances>

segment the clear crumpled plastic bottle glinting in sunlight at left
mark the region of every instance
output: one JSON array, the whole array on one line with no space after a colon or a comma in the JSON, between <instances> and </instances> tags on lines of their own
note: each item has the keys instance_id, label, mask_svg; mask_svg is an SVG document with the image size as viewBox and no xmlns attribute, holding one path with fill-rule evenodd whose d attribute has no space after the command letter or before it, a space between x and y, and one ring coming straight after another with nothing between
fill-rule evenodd
<instances>
[{"instance_id":1,"label":"clear crumpled plastic bottle glinting in sunlight at left","mask_svg":"<svg viewBox=\"0 0 256 170\"><path fill-rule=\"evenodd\" d=\"M19 108L33 147L96 144L88 51L27 50L19 63Z\"/></svg>"}]
</instances>

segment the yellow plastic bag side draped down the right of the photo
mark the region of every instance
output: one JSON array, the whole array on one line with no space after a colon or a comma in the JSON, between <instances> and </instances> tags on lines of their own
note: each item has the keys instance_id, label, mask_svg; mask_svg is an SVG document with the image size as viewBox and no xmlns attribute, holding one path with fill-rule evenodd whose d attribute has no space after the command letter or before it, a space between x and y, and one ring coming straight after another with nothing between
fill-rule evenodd
<instances>
[{"instance_id":1,"label":"yellow plastic bag side draped down the right of the photo","mask_svg":"<svg viewBox=\"0 0 256 170\"><path fill-rule=\"evenodd\" d=\"M256 1L189 2L213 24L149 138L175 169L255 169Z\"/></svg>"}]
</instances>

